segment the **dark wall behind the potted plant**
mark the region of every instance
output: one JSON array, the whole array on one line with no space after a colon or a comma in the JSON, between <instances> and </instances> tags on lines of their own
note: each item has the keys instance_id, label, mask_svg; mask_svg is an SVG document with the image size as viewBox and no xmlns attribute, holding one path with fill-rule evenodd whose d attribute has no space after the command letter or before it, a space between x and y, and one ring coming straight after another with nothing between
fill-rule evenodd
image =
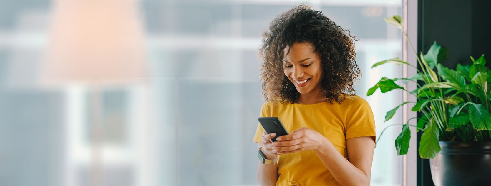
<instances>
[{"instance_id":1,"label":"dark wall behind the potted plant","mask_svg":"<svg viewBox=\"0 0 491 186\"><path fill-rule=\"evenodd\" d=\"M418 51L433 42L450 49L446 67L470 63L482 54L491 66L490 0L418 0ZM418 133L418 146L421 133ZM433 186L429 161L418 157L418 186Z\"/></svg>"}]
</instances>

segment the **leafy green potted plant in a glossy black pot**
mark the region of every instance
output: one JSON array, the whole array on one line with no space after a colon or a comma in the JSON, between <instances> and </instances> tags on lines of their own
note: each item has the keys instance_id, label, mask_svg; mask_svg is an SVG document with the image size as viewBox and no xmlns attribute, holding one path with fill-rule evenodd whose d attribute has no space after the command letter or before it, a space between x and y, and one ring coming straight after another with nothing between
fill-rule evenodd
<instances>
[{"instance_id":1,"label":"leafy green potted plant in a glossy black pot","mask_svg":"<svg viewBox=\"0 0 491 186\"><path fill-rule=\"evenodd\" d=\"M447 48L434 42L425 55L422 52L418 55L404 31L403 19L392 16L385 18L385 22L403 31L419 65L415 67L396 57L372 66L390 63L417 70L411 78L383 77L367 92L369 96L377 89L382 93L400 89L417 97L417 102L404 102L385 115L388 121L399 107L413 104L411 111L421 116L400 124L402 131L395 140L397 155L407 154L411 138L409 127L414 127L423 132L419 156L431 159L436 186L491 185L491 179L487 178L491 175L491 72L485 66L484 55L477 60L471 56L472 64L458 64L456 70L452 70L441 64L448 56ZM415 83L417 88L406 90L396 82ZM409 121L416 118L416 126L409 125Z\"/></svg>"}]
</instances>

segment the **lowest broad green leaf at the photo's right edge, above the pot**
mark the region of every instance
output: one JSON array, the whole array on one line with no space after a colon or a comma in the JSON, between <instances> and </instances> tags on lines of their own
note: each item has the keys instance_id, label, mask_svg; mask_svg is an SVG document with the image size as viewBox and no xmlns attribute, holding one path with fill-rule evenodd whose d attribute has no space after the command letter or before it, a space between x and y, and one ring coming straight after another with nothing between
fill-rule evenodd
<instances>
[{"instance_id":1,"label":"lowest broad green leaf at the photo's right edge, above the pot","mask_svg":"<svg viewBox=\"0 0 491 186\"><path fill-rule=\"evenodd\" d=\"M470 105L470 123L472 123L477 130L491 130L491 114L486 111L481 104L471 103Z\"/></svg>"}]
</instances>

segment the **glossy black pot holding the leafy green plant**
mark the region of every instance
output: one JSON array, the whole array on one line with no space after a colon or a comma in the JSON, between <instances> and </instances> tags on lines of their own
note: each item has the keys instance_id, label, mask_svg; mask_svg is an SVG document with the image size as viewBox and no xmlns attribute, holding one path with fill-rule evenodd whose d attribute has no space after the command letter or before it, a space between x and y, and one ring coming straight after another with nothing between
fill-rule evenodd
<instances>
[{"instance_id":1,"label":"glossy black pot holding the leafy green plant","mask_svg":"<svg viewBox=\"0 0 491 186\"><path fill-rule=\"evenodd\" d=\"M435 186L491 186L491 142L439 143L430 160Z\"/></svg>"}]
</instances>

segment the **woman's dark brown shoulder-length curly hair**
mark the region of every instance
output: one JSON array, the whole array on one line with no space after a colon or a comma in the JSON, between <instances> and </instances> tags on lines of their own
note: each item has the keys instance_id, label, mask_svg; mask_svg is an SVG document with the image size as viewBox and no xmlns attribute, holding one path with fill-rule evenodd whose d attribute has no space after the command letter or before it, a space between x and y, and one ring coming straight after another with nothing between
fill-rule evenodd
<instances>
[{"instance_id":1,"label":"woman's dark brown shoulder-length curly hair","mask_svg":"<svg viewBox=\"0 0 491 186\"><path fill-rule=\"evenodd\" d=\"M348 34L345 33L348 31ZM262 34L259 55L262 89L265 101L280 100L294 103L300 93L283 72L283 49L294 43L308 42L321 58L322 87L326 101L340 103L347 95L355 95L353 81L361 76L356 64L355 44L349 30L343 30L332 20L304 4L276 16ZM357 41L357 40L355 40Z\"/></svg>"}]
</instances>

